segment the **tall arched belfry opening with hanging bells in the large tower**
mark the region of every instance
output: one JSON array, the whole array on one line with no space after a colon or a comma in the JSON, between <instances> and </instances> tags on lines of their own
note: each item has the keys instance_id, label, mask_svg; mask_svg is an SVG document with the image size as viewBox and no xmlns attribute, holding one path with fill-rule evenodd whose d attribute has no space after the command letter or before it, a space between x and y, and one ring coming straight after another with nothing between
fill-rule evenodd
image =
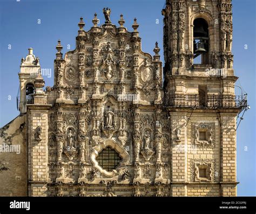
<instances>
[{"instance_id":1,"label":"tall arched belfry opening with hanging bells in the large tower","mask_svg":"<svg viewBox=\"0 0 256 214\"><path fill-rule=\"evenodd\" d=\"M194 20L193 29L193 53L194 64L209 63L209 32L208 23L203 18Z\"/></svg>"}]
</instances>

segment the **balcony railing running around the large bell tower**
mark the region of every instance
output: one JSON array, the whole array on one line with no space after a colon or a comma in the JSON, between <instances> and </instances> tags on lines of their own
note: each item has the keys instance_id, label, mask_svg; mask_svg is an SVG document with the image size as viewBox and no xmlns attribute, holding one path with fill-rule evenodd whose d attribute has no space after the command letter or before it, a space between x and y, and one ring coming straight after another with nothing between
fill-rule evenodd
<instances>
[{"instance_id":1,"label":"balcony railing running around the large bell tower","mask_svg":"<svg viewBox=\"0 0 256 214\"><path fill-rule=\"evenodd\" d=\"M169 97L169 106L198 107L198 108L238 108L247 106L247 95L220 96L211 95L199 97L199 95L175 95Z\"/></svg>"}]
</instances>

